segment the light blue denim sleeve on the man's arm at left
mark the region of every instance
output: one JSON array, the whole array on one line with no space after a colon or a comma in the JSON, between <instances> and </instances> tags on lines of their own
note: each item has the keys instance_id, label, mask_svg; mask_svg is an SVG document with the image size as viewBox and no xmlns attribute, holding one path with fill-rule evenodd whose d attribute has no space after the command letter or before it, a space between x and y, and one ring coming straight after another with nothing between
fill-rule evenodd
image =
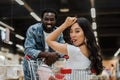
<instances>
[{"instance_id":1,"label":"light blue denim sleeve on the man's arm at left","mask_svg":"<svg viewBox=\"0 0 120 80\"><path fill-rule=\"evenodd\" d=\"M36 48L35 48L35 44L36 44L35 35L34 35L34 33L33 33L34 31L32 30L31 27L27 30L27 33L26 33L26 40L25 40L25 44L24 44L24 47L25 47L24 53L25 53L25 55L29 55L32 58L37 58L38 54L41 51L36 50Z\"/></svg>"}]
</instances>

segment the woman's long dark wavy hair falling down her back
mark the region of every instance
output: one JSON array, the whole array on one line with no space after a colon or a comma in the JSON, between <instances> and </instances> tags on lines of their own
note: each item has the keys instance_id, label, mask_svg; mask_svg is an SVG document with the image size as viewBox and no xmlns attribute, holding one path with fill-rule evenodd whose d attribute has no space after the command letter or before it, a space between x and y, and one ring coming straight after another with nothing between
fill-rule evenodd
<instances>
[{"instance_id":1,"label":"woman's long dark wavy hair falling down her back","mask_svg":"<svg viewBox=\"0 0 120 80\"><path fill-rule=\"evenodd\" d=\"M82 30L84 31L84 35L86 38L86 45L90 51L89 59L91 61L91 70L95 70L96 74L101 74L103 71L103 65L102 65L102 57L101 57L101 50L100 47L97 45L95 36L93 34L91 24L86 18L78 18L77 23L80 25ZM69 33L69 29L64 31L64 35ZM69 38L69 39L67 39ZM64 36L64 39L67 43L71 44L70 36Z\"/></svg>"}]
</instances>

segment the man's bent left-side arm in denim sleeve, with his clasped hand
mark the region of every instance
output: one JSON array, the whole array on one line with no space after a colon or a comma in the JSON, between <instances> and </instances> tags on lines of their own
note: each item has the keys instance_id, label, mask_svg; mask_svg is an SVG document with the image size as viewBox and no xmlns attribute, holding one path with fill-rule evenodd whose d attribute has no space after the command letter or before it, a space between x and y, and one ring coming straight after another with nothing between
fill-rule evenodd
<instances>
[{"instance_id":1,"label":"man's bent left-side arm in denim sleeve, with his clasped hand","mask_svg":"<svg viewBox=\"0 0 120 80\"><path fill-rule=\"evenodd\" d=\"M26 33L26 40L25 40L25 55L28 55L34 59L36 58L46 58L46 63L52 64L54 61L57 60L58 54L56 52L50 53L50 52L42 52L41 50L36 49L36 26L39 25L33 25L31 26ZM51 59L50 59L51 58ZM49 61L49 62L48 62Z\"/></svg>"}]
</instances>

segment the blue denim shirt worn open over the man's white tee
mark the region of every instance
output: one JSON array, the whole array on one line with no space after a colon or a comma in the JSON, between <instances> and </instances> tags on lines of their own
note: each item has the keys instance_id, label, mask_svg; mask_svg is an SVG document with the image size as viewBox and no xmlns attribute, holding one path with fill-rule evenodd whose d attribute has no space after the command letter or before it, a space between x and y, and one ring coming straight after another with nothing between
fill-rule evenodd
<instances>
[{"instance_id":1,"label":"blue denim shirt worn open over the man's white tee","mask_svg":"<svg viewBox=\"0 0 120 80\"><path fill-rule=\"evenodd\" d=\"M56 29L56 27L54 28ZM45 40L44 40L44 32L42 23L36 23L32 26L30 26L26 33L26 40L25 40L25 50L24 54L29 55L32 57L32 60L36 60L38 57L38 54L41 51L45 51ZM60 43L64 43L63 35L61 34L57 41ZM53 52L53 50L50 48L49 52ZM23 63L23 70L25 75L25 80L30 80L30 72L28 70L28 62L26 58L24 58Z\"/></svg>"}]
</instances>

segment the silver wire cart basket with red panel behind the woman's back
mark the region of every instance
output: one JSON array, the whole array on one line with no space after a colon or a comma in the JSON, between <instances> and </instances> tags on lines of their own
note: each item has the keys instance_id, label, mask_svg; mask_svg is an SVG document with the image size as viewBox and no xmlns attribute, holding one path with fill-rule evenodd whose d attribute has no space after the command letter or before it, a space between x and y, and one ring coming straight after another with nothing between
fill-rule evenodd
<instances>
[{"instance_id":1,"label":"silver wire cart basket with red panel behind the woman's back","mask_svg":"<svg viewBox=\"0 0 120 80\"><path fill-rule=\"evenodd\" d=\"M64 80L90 80L91 72L88 69L61 69L56 78L64 76Z\"/></svg>"}]
</instances>

